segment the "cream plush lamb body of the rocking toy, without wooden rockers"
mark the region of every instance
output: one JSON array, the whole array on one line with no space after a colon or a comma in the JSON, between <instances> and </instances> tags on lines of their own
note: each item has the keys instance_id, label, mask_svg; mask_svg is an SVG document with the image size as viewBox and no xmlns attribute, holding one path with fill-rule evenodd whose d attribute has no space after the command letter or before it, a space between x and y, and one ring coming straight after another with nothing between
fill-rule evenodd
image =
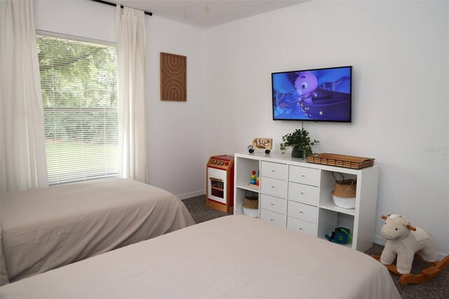
<instances>
[{"instance_id":1,"label":"cream plush lamb body of the rocking toy, without wooden rockers","mask_svg":"<svg viewBox=\"0 0 449 299\"><path fill-rule=\"evenodd\" d=\"M382 237L387 239L380 263L391 265L398 256L396 268L401 274L408 274L412 269L415 253L420 251L422 258L430 263L436 262L438 253L431 235L420 227L413 227L400 215L387 214L382 227Z\"/></svg>"}]
</instances>

